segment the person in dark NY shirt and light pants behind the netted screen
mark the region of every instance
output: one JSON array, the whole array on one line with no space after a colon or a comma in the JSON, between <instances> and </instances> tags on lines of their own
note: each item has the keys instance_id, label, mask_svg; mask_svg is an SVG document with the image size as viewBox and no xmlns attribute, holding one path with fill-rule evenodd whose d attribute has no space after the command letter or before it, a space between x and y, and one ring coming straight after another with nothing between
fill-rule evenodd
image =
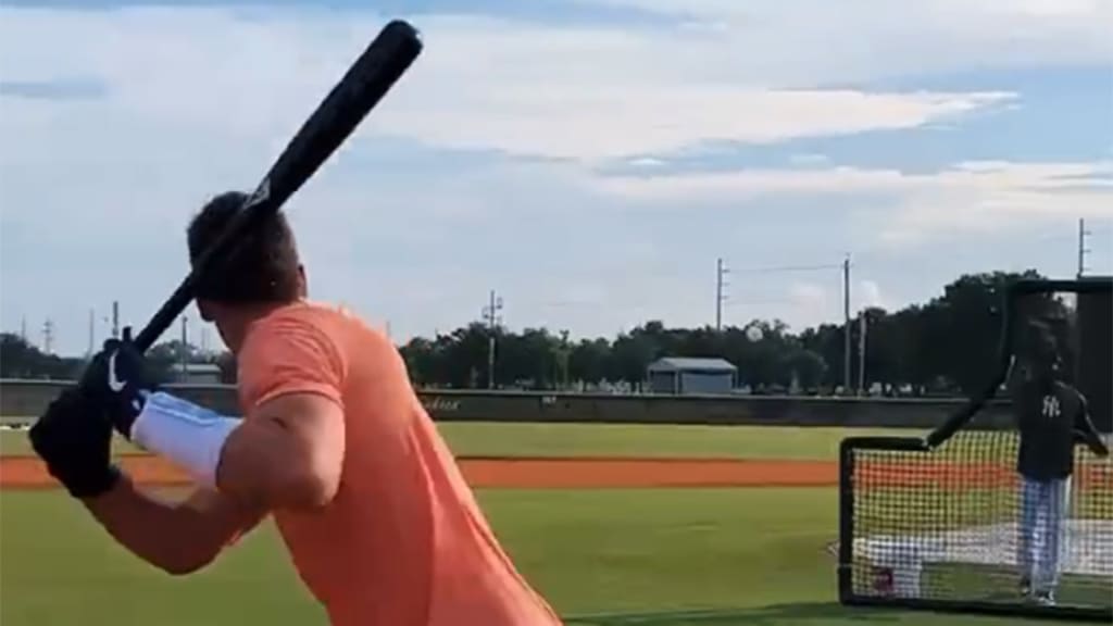
<instances>
[{"instance_id":1,"label":"person in dark NY shirt and light pants behind the netted screen","mask_svg":"<svg viewBox=\"0 0 1113 626\"><path fill-rule=\"evenodd\" d=\"M1016 471L1021 475L1017 564L1022 593L1054 604L1060 544L1071 497L1074 446L1081 437L1100 457L1109 449L1090 419L1086 399L1062 380L1060 356L1050 329L1032 324L1026 350L1015 361L1013 408L1021 434Z\"/></svg>"}]
</instances>

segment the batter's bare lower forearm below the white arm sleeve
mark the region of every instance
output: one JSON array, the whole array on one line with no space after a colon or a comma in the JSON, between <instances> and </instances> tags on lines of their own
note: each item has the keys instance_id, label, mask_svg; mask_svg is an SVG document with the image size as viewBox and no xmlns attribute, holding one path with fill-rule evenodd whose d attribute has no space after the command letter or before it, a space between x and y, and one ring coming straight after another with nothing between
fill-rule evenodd
<instances>
[{"instance_id":1,"label":"batter's bare lower forearm below the white arm sleeve","mask_svg":"<svg viewBox=\"0 0 1113 626\"><path fill-rule=\"evenodd\" d=\"M82 502L120 545L174 575L205 567L266 515L206 489L181 501L164 500L126 476L111 490Z\"/></svg>"}]
</instances>

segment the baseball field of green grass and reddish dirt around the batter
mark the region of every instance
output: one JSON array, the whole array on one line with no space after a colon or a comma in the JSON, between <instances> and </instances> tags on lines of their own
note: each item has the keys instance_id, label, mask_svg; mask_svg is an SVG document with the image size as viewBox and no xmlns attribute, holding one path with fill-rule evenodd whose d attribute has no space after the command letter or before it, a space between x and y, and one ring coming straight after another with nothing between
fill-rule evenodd
<instances>
[{"instance_id":1,"label":"baseball field of green grass and reddish dirt around the batter","mask_svg":"<svg viewBox=\"0 0 1113 626\"><path fill-rule=\"evenodd\" d=\"M496 534L569 624L1021 623L838 606L838 442L885 431L441 428ZM175 468L117 448L134 476L180 488ZM325 624L269 525L208 569L170 577L56 489L23 432L0 431L0 454L3 626Z\"/></svg>"}]
</instances>

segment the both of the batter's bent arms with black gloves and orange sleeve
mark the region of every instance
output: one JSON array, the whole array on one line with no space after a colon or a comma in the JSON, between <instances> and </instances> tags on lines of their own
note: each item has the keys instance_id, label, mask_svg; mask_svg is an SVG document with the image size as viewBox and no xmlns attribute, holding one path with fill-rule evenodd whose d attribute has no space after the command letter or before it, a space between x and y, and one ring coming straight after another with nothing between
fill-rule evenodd
<instances>
[{"instance_id":1,"label":"both of the batter's bent arms with black gloves and orange sleeve","mask_svg":"<svg viewBox=\"0 0 1113 626\"><path fill-rule=\"evenodd\" d=\"M86 372L83 393L66 394L31 432L52 475L120 544L161 569L185 574L210 563L267 511L332 499L343 412L327 338L304 325L276 327L263 338L266 350L254 359L249 381L249 419L239 420L151 384L128 335L106 343ZM171 502L140 491L127 477L115 479L108 458L112 424L189 470L201 490Z\"/></svg>"}]
</instances>

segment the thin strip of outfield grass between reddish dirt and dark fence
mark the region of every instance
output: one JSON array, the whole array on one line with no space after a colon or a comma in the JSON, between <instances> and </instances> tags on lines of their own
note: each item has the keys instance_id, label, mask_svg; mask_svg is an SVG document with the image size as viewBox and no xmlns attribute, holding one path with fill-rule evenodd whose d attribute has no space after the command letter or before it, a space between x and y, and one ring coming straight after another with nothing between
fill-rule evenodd
<instances>
[{"instance_id":1,"label":"thin strip of outfield grass between reddish dirt and dark fence","mask_svg":"<svg viewBox=\"0 0 1113 626\"><path fill-rule=\"evenodd\" d=\"M845 437L923 434L917 430L850 428L702 427L643 424L544 424L442 422L462 457L722 457L737 459L836 459ZM118 440L116 450L134 452ZM31 453L24 431L0 431L0 454Z\"/></svg>"}]
</instances>

